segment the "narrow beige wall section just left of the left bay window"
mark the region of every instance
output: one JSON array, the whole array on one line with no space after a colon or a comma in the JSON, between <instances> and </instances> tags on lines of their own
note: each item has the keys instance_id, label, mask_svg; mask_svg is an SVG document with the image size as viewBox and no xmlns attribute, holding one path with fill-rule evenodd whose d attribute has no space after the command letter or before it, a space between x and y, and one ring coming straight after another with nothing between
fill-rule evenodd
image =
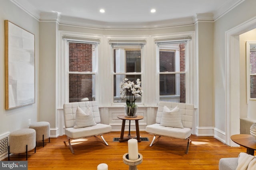
<instances>
[{"instance_id":1,"label":"narrow beige wall section just left of the left bay window","mask_svg":"<svg viewBox=\"0 0 256 170\"><path fill-rule=\"evenodd\" d=\"M58 136L56 123L56 61L58 60L58 24L40 22L38 120L50 123L51 135Z\"/></svg>"}]
</instances>

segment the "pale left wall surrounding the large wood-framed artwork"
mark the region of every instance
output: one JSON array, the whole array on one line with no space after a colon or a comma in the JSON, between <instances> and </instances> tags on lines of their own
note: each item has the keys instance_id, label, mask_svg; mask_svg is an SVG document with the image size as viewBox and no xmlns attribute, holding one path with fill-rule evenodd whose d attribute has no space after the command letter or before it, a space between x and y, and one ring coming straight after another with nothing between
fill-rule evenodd
<instances>
[{"instance_id":1,"label":"pale left wall surrounding the large wood-framed artwork","mask_svg":"<svg viewBox=\"0 0 256 170\"><path fill-rule=\"evenodd\" d=\"M0 136L21 128L28 128L28 119L36 122L38 118L38 59L39 22L9 0L0 0ZM4 87L4 20L26 29L35 35L35 104L5 110Z\"/></svg>"}]
</instances>

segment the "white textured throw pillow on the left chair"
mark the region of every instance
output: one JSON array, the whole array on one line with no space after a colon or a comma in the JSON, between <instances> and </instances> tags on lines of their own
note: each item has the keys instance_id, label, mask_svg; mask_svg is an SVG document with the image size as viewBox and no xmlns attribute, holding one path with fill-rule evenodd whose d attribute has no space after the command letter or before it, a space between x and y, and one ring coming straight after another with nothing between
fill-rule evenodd
<instances>
[{"instance_id":1,"label":"white textured throw pillow on the left chair","mask_svg":"<svg viewBox=\"0 0 256 170\"><path fill-rule=\"evenodd\" d=\"M76 108L76 121L74 128L80 128L80 127L88 127L96 125L92 113L91 107L86 108L86 113L80 108Z\"/></svg>"}]
</instances>

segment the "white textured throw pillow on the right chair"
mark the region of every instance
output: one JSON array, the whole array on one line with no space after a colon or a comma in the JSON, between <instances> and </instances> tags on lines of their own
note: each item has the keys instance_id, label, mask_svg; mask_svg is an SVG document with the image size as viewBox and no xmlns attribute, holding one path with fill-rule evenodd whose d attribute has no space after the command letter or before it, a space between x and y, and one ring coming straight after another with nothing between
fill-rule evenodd
<instances>
[{"instance_id":1,"label":"white textured throw pillow on the right chair","mask_svg":"<svg viewBox=\"0 0 256 170\"><path fill-rule=\"evenodd\" d=\"M184 128L181 122L180 108L176 106L170 110L167 106L164 106L160 125Z\"/></svg>"}]
</instances>

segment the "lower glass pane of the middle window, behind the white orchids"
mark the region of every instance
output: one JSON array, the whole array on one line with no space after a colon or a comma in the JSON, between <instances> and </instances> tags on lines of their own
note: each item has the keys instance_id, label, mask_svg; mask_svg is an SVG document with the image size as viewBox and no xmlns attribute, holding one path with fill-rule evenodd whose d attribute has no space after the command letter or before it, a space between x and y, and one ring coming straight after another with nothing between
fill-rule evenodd
<instances>
[{"instance_id":1,"label":"lower glass pane of the middle window, behind the white orchids","mask_svg":"<svg viewBox=\"0 0 256 170\"><path fill-rule=\"evenodd\" d=\"M139 78L141 80L141 75L114 75L114 103L126 102L126 98L122 100L120 97L120 84L123 82L124 78L136 83L136 80ZM142 87L142 84L140 84ZM136 103L141 102L141 97L136 97Z\"/></svg>"}]
</instances>

